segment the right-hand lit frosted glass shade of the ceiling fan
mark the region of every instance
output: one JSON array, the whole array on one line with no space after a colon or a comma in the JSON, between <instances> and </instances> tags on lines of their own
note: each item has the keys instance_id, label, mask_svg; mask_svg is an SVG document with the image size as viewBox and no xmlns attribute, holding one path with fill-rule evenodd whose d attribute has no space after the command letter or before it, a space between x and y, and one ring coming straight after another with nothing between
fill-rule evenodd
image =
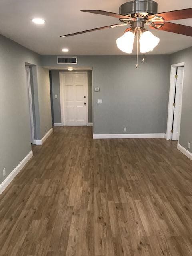
<instances>
[{"instance_id":1,"label":"right-hand lit frosted glass shade of the ceiling fan","mask_svg":"<svg viewBox=\"0 0 192 256\"><path fill-rule=\"evenodd\" d=\"M159 43L160 39L154 36L150 31L145 31L140 35L140 52L146 53L152 51Z\"/></svg>"}]
</instances>

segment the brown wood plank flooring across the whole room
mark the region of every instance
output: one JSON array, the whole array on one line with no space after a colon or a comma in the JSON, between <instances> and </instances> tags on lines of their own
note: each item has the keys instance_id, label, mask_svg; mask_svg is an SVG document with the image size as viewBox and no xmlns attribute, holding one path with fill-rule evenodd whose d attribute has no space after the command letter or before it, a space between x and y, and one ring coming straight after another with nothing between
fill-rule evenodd
<instances>
[{"instance_id":1,"label":"brown wood plank flooring across the whole room","mask_svg":"<svg viewBox=\"0 0 192 256\"><path fill-rule=\"evenodd\" d=\"M192 161L57 127L0 196L0 256L191 256Z\"/></svg>"}]
</instances>

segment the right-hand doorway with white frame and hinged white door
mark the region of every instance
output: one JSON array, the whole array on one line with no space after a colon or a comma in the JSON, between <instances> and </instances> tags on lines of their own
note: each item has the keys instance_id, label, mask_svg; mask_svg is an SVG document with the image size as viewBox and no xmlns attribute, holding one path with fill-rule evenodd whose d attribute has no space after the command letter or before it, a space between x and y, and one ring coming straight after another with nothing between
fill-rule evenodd
<instances>
[{"instance_id":1,"label":"right-hand doorway with white frame and hinged white door","mask_svg":"<svg viewBox=\"0 0 192 256\"><path fill-rule=\"evenodd\" d=\"M172 65L170 75L167 140L179 141L183 80L184 62Z\"/></svg>"}]
</instances>

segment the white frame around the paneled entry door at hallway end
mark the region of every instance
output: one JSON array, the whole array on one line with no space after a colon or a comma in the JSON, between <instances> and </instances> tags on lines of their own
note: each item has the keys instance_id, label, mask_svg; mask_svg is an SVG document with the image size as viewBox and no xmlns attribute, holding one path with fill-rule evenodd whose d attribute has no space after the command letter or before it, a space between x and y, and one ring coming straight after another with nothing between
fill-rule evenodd
<instances>
[{"instance_id":1,"label":"white frame around the paneled entry door at hallway end","mask_svg":"<svg viewBox=\"0 0 192 256\"><path fill-rule=\"evenodd\" d=\"M62 80L62 74L85 74L85 87L86 87L86 126L88 126L88 75L87 75L87 71L60 71L59 72L59 86L60 86L60 104L61 104L61 124L62 126L65 126L65 106L64 106L64 99L63 99L63 80Z\"/></svg>"}]
</instances>

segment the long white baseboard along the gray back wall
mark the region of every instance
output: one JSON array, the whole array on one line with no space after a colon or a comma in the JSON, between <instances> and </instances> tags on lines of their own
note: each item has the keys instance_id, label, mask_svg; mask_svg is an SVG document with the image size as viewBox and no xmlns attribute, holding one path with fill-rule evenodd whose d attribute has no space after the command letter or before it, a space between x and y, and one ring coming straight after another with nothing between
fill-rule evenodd
<instances>
[{"instance_id":1,"label":"long white baseboard along the gray back wall","mask_svg":"<svg viewBox=\"0 0 192 256\"><path fill-rule=\"evenodd\" d=\"M94 139L134 139L134 138L164 138L164 133L138 134L93 134Z\"/></svg>"}]
</instances>

